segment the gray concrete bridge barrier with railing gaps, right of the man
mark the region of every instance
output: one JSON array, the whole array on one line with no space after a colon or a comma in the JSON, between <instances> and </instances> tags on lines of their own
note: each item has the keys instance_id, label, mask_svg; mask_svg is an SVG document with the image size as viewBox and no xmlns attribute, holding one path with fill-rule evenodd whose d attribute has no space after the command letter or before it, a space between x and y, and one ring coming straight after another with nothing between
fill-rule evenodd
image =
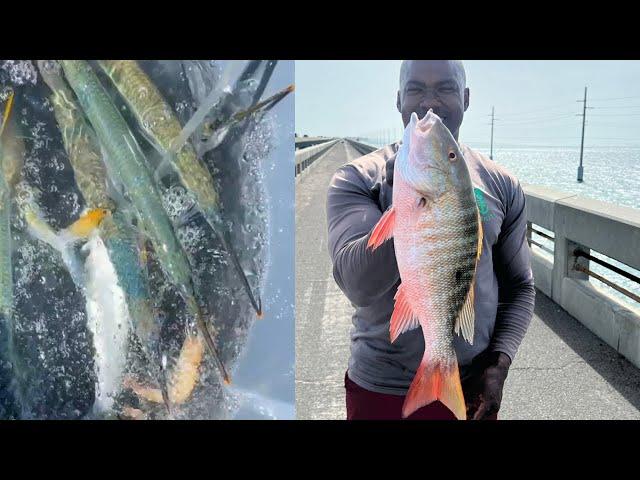
<instances>
[{"instance_id":1,"label":"gray concrete bridge barrier with railing gaps, right of the man","mask_svg":"<svg viewBox=\"0 0 640 480\"><path fill-rule=\"evenodd\" d=\"M640 367L640 310L596 289L586 273L589 260L574 250L591 249L640 270L640 210L561 192L523 185L527 237L531 224L554 232L553 262L532 251L536 287L598 337Z\"/></svg>"}]
</instances>

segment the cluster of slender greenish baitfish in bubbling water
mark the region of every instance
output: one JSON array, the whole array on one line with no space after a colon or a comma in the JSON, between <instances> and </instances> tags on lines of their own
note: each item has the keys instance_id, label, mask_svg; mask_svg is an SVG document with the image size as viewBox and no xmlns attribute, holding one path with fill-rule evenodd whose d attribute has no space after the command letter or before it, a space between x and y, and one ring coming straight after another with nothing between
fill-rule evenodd
<instances>
[{"instance_id":1,"label":"cluster of slender greenish baitfish in bubbling water","mask_svg":"<svg viewBox=\"0 0 640 480\"><path fill-rule=\"evenodd\" d=\"M22 87L0 85L0 374L9 378L0 391L17 405L13 413L0 407L0 418L19 418L37 387L17 338L24 338L27 328L47 331L36 321L21 326L15 314L14 270L19 265L12 264L12 257L20 242L59 259L84 299L79 318L86 318L93 338L92 415L174 418L199 383L231 383L220 319L203 300L210 286L200 284L195 274L202 254L193 253L184 229L194 218L204 219L246 300L262 317L260 287L247 276L250 259L236 252L234 227L225 218L224 195L216 186L221 170L205 161L205 154L233 153L236 147L230 145L248 122L258 121L293 86L261 99L276 61L246 62L233 85L216 85L207 62L176 63L188 80L190 116L185 113L189 108L171 102L166 97L170 90L134 60L29 63L34 66L29 78L46 86L43 103L53 113L83 200L84 209L66 226L48 221L41 200L47 192L23 168L28 156L23 139L29 132L22 131L24 113L15 106L20 101L28 105L20 97ZM228 72L222 77L228 79ZM38 80L29 84L39 85ZM166 204L167 191L182 191L192 199L192 208L176 218ZM176 306L174 315L160 305L158 299L166 298ZM172 344L175 338L166 340L167 331L181 339L178 346ZM140 352L135 360L132 351ZM203 369L207 352L217 380Z\"/></svg>"}]
</instances>

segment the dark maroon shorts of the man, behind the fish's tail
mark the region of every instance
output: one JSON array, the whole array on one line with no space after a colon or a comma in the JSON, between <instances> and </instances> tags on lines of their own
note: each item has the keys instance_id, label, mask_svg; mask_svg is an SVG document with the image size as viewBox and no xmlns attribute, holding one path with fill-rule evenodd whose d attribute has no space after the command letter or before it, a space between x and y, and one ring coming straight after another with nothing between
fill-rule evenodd
<instances>
[{"instance_id":1,"label":"dark maroon shorts of the man, behind the fish's tail","mask_svg":"<svg viewBox=\"0 0 640 480\"><path fill-rule=\"evenodd\" d=\"M371 392L353 382L344 374L347 391L347 420L402 420L404 396ZM497 420L494 414L487 420ZM456 416L439 401L424 406L407 420L456 420Z\"/></svg>"}]
</instances>

